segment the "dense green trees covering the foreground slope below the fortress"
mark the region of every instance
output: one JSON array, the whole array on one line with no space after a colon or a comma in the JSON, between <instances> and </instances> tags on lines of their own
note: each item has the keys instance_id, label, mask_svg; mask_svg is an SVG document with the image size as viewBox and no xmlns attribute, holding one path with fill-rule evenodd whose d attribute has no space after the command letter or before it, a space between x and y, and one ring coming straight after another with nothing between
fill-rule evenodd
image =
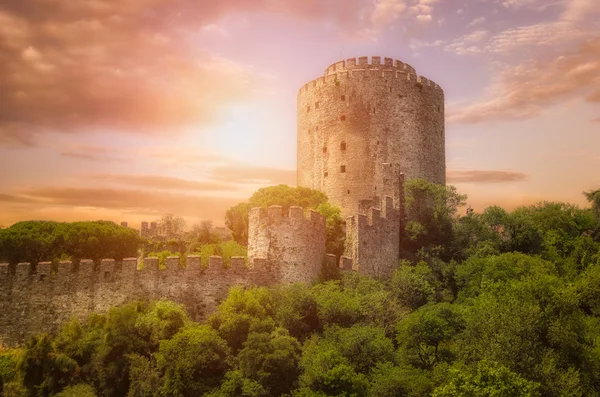
<instances>
[{"instance_id":1,"label":"dense green trees covering the foreground slope below the fortress","mask_svg":"<svg viewBox=\"0 0 600 397\"><path fill-rule=\"evenodd\" d=\"M418 233L390 278L233 288L202 323L173 302L128 303L0 349L0 387L7 397L600 396L595 207L455 216L463 199L452 189L415 191L441 204L410 215Z\"/></svg>"}]
</instances>

